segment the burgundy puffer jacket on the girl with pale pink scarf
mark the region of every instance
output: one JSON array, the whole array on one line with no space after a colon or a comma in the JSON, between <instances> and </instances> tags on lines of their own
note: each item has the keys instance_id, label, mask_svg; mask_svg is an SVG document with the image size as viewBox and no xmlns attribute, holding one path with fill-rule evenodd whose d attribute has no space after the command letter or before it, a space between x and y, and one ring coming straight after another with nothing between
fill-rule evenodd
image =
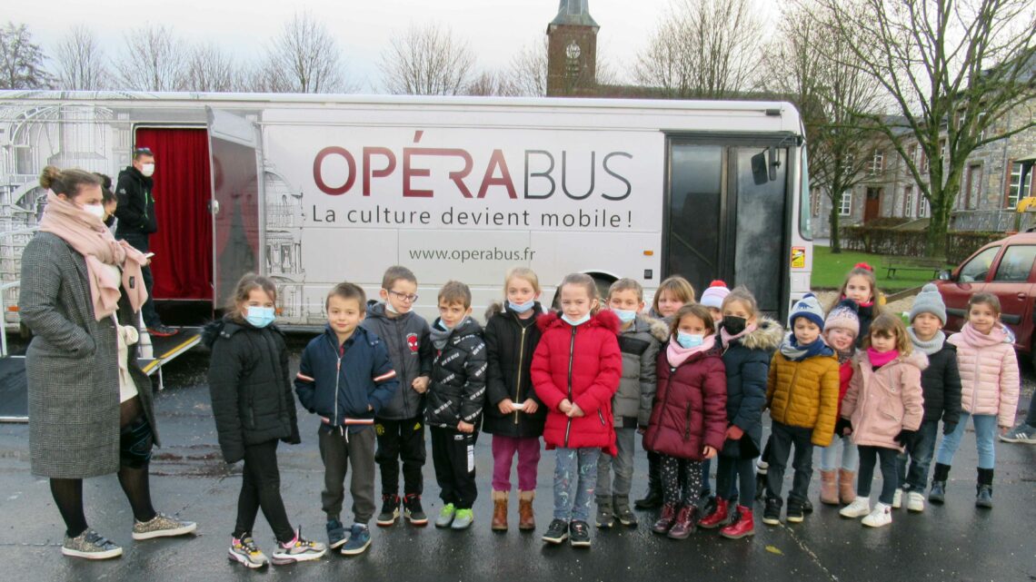
<instances>
[{"instance_id":1,"label":"burgundy puffer jacket on the girl with pale pink scarf","mask_svg":"<svg viewBox=\"0 0 1036 582\"><path fill-rule=\"evenodd\" d=\"M658 391L644 447L670 457L703 461L706 445L720 450L725 433L726 368L720 351L693 354L673 368L666 350L661 350Z\"/></svg>"}]
</instances>

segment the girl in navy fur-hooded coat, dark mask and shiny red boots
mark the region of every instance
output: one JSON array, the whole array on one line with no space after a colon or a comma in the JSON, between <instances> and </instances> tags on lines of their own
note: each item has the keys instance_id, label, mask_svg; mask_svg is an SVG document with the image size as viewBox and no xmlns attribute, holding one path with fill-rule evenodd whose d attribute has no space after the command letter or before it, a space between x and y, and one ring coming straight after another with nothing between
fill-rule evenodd
<instances>
[{"instance_id":1,"label":"girl in navy fur-hooded coat, dark mask and shiny red boots","mask_svg":"<svg viewBox=\"0 0 1036 582\"><path fill-rule=\"evenodd\" d=\"M744 287L735 288L723 299L722 314L719 334L726 369L726 432L716 469L716 510L698 525L706 529L724 526L720 535L738 540L755 533L752 460L762 444L770 359L784 330L776 321L759 315L755 297ZM736 484L740 485L740 497ZM729 503L736 498L741 502L728 517Z\"/></svg>"}]
</instances>

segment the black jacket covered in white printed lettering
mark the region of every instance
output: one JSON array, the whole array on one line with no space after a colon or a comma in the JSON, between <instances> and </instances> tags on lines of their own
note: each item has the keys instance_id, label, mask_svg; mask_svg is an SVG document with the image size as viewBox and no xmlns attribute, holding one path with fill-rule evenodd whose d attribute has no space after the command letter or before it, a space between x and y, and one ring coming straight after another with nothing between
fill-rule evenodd
<instances>
[{"instance_id":1,"label":"black jacket covered in white printed lettering","mask_svg":"<svg viewBox=\"0 0 1036 582\"><path fill-rule=\"evenodd\" d=\"M435 320L432 340L437 333ZM461 420L478 429L486 402L486 343L482 326L470 317L454 327L445 345L436 348L432 383L428 387L425 423L456 428Z\"/></svg>"}]
</instances>

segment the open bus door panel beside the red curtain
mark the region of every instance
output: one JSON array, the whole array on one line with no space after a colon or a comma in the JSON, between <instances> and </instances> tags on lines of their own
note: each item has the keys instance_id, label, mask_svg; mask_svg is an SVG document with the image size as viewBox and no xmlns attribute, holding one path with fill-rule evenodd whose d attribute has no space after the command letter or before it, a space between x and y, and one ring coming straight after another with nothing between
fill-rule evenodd
<instances>
[{"instance_id":1,"label":"open bus door panel beside the red curtain","mask_svg":"<svg viewBox=\"0 0 1036 582\"><path fill-rule=\"evenodd\" d=\"M259 272L263 228L262 141L237 112L206 107L212 165L212 266L215 308L229 303L242 274Z\"/></svg>"}]
</instances>

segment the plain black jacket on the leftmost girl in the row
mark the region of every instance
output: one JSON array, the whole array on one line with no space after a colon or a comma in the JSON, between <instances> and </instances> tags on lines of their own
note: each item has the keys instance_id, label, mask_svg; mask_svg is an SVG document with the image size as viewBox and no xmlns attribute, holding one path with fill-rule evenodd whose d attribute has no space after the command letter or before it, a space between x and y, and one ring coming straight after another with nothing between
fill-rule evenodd
<instances>
[{"instance_id":1,"label":"plain black jacket on the leftmost girl in the row","mask_svg":"<svg viewBox=\"0 0 1036 582\"><path fill-rule=\"evenodd\" d=\"M224 460L241 460L249 444L301 442L281 331L224 317L205 326L203 341L212 350L208 389Z\"/></svg>"}]
</instances>

